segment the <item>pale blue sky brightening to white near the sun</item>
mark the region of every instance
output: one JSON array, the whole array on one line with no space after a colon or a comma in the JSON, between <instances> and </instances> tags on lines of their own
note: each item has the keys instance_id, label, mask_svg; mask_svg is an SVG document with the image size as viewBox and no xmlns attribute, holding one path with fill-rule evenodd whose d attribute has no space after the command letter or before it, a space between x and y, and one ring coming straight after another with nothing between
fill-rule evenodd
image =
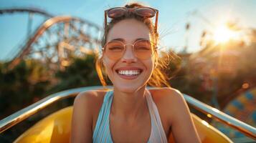
<instances>
[{"instance_id":1,"label":"pale blue sky brightening to white near the sun","mask_svg":"<svg viewBox=\"0 0 256 143\"><path fill-rule=\"evenodd\" d=\"M75 16L103 26L105 9L123 6L129 0L1 0L0 9L37 8L55 16ZM199 46L202 31L225 21L237 22L239 26L256 29L255 0L143 0L138 1L158 9L158 31L163 47L171 47L176 52L188 46L188 52L202 49ZM10 57L11 51L19 50L27 39L28 14L0 14L0 61ZM33 18L32 31L44 21L43 16ZM190 24L189 31L185 30ZM186 37L186 38L185 38Z\"/></svg>"}]
</instances>

